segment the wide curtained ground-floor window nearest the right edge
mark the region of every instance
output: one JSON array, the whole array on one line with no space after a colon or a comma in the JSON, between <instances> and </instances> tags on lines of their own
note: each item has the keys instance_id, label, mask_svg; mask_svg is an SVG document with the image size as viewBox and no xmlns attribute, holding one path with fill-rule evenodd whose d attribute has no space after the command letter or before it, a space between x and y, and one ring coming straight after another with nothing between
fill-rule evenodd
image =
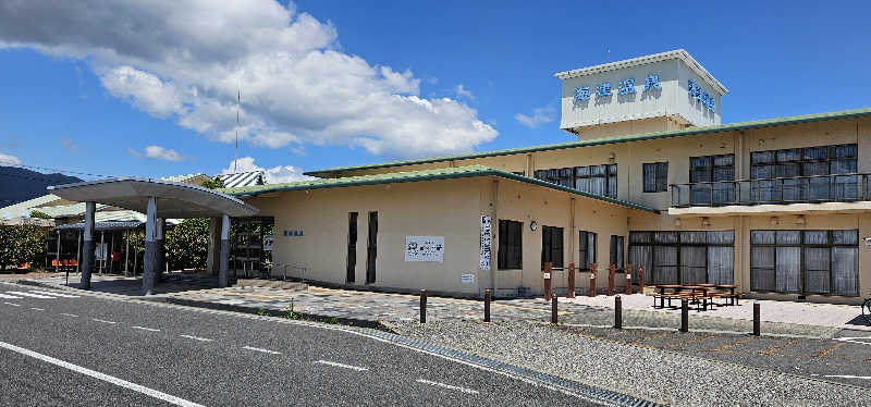
<instances>
[{"instance_id":1,"label":"wide curtained ground-floor window nearest the right edge","mask_svg":"<svg viewBox=\"0 0 871 407\"><path fill-rule=\"evenodd\" d=\"M751 231L750 289L858 295L859 232Z\"/></svg>"}]
</instances>

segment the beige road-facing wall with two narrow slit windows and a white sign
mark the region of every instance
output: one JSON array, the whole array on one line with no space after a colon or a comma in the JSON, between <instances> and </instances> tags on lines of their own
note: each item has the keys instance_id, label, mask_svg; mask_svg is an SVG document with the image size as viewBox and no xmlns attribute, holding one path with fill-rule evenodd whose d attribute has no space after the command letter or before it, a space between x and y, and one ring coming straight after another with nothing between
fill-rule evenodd
<instances>
[{"instance_id":1,"label":"beige road-facing wall with two narrow slit windows and a white sign","mask_svg":"<svg viewBox=\"0 0 871 407\"><path fill-rule=\"evenodd\" d=\"M480 190L486 180L416 182L286 192L247 200L275 220L273 261L307 269L311 280L345 284L348 213L358 212L356 286L366 286L369 212L378 212L372 287L478 294ZM304 236L282 231L303 230ZM444 262L406 262L405 236L444 236ZM476 274L474 284L461 275Z\"/></svg>"}]
</instances>

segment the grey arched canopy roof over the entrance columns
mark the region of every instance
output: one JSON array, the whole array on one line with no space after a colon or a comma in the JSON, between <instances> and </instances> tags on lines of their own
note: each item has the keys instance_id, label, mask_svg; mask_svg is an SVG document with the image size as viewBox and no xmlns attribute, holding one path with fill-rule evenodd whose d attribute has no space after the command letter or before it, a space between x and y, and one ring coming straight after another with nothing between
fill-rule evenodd
<instances>
[{"instance_id":1,"label":"grey arched canopy roof over the entrance columns","mask_svg":"<svg viewBox=\"0 0 871 407\"><path fill-rule=\"evenodd\" d=\"M49 186L63 199L93 201L146 213L148 198L157 198L158 218L240 218L258 210L237 198L192 184L150 178L110 178Z\"/></svg>"}]
</instances>

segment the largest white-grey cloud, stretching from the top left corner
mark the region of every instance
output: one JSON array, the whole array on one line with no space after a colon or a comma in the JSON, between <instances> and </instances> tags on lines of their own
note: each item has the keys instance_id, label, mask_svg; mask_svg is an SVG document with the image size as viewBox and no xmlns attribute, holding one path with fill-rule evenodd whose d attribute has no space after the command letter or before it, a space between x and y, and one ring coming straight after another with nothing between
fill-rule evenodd
<instances>
[{"instance_id":1,"label":"largest white-grey cloud, stretching from the top left corner","mask_svg":"<svg viewBox=\"0 0 871 407\"><path fill-rule=\"evenodd\" d=\"M267 148L421 157L498 136L475 109L420 97L410 70L342 52L334 26L275 0L0 2L4 47L87 61L110 95L220 143L235 138L237 90L240 138Z\"/></svg>"}]
</instances>

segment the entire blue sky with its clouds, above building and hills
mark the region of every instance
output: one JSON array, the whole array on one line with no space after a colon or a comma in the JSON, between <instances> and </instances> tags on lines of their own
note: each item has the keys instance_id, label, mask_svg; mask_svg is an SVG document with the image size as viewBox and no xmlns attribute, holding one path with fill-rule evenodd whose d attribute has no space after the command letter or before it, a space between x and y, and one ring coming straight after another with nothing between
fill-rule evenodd
<instances>
[{"instance_id":1,"label":"entire blue sky with its clouds, above building and hills","mask_svg":"<svg viewBox=\"0 0 871 407\"><path fill-rule=\"evenodd\" d=\"M213 3L0 5L0 153L101 175L219 173L234 88L240 163L281 181L566 141L555 72L677 48L731 90L724 123L871 107L867 1ZM536 112L536 126L516 119Z\"/></svg>"}]
</instances>

